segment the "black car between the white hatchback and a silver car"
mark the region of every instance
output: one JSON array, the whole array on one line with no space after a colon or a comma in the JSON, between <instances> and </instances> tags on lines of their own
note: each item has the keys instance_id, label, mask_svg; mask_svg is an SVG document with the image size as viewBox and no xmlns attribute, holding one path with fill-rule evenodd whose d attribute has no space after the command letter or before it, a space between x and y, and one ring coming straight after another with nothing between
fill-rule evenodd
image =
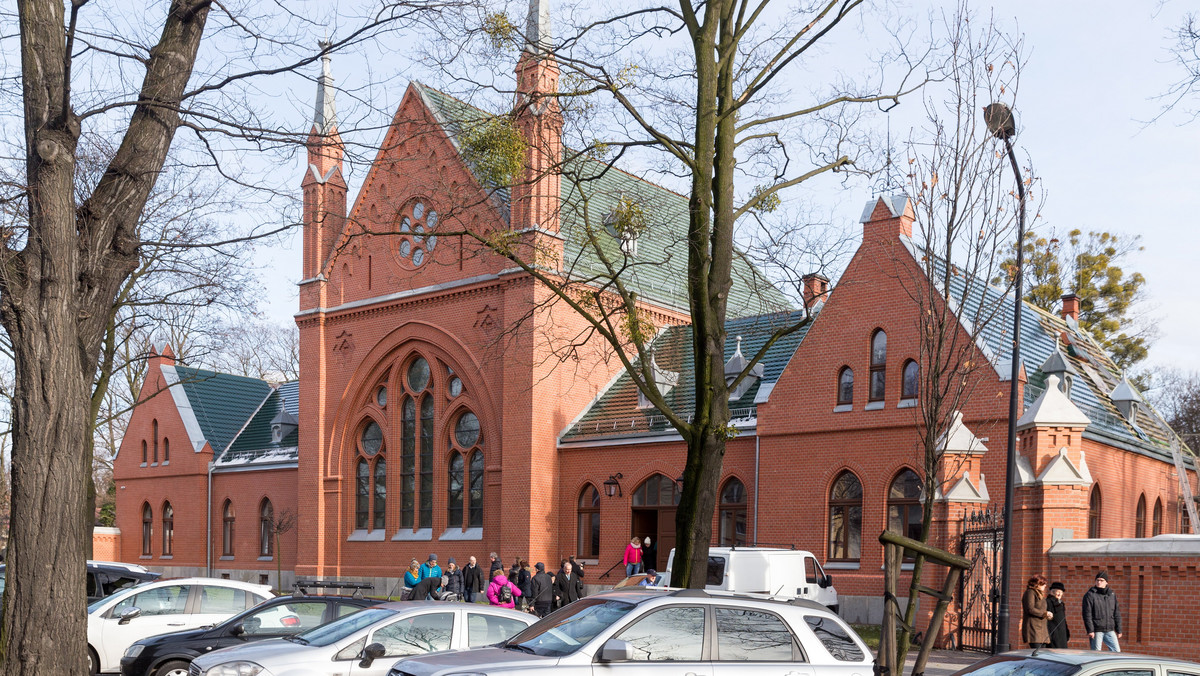
<instances>
[{"instance_id":1,"label":"black car between the white hatchback and a silver car","mask_svg":"<svg viewBox=\"0 0 1200 676\"><path fill-rule=\"evenodd\" d=\"M307 632L338 617L383 603L344 596L277 597L214 627L150 636L121 658L125 676L187 676L192 659L217 648Z\"/></svg>"}]
</instances>

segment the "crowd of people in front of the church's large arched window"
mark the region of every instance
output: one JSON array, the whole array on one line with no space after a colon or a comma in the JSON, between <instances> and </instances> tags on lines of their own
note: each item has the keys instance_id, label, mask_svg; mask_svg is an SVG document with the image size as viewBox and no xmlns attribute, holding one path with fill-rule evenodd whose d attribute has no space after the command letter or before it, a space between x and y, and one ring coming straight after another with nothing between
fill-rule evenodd
<instances>
[{"instance_id":1,"label":"crowd of people in front of the church's large arched window","mask_svg":"<svg viewBox=\"0 0 1200 676\"><path fill-rule=\"evenodd\" d=\"M450 557L445 569L438 566L437 554L431 554L425 563L414 558L404 572L403 598L466 603L481 603L486 598L491 605L524 610L538 617L583 598L583 566L574 556L563 560L557 573L547 573L540 561L530 567L528 561L518 558L505 570L494 551L488 558L486 574L474 556L462 568Z\"/></svg>"}]
</instances>

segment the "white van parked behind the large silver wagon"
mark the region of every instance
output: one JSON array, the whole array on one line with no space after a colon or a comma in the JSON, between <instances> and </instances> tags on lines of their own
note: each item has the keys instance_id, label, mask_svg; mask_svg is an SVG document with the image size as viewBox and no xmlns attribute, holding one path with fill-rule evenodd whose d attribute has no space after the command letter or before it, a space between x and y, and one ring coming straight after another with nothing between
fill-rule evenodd
<instances>
[{"instance_id":1,"label":"white van parked behind the large silver wagon","mask_svg":"<svg viewBox=\"0 0 1200 676\"><path fill-rule=\"evenodd\" d=\"M667 557L662 586L671 586L674 550ZM725 590L772 598L806 598L838 611L833 578L817 563L812 552L761 546L714 546L708 549L707 590Z\"/></svg>"}]
</instances>

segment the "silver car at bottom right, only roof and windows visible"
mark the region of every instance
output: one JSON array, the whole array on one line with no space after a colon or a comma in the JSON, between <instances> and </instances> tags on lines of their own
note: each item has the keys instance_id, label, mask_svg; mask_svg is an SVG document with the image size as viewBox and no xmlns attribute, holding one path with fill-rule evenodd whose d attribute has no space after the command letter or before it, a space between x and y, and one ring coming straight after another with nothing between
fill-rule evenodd
<instances>
[{"instance_id":1,"label":"silver car at bottom right, only roof and windows visible","mask_svg":"<svg viewBox=\"0 0 1200 676\"><path fill-rule=\"evenodd\" d=\"M1013 651L977 662L954 676L1200 676L1200 664L1128 652Z\"/></svg>"}]
</instances>

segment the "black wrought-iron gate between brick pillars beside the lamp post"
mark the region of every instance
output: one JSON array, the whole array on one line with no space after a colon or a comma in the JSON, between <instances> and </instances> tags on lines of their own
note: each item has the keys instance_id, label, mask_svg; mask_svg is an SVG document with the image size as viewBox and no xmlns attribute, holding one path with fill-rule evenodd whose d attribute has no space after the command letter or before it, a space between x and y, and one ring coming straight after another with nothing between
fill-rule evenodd
<instances>
[{"instance_id":1,"label":"black wrought-iron gate between brick pillars beside the lamp post","mask_svg":"<svg viewBox=\"0 0 1200 676\"><path fill-rule=\"evenodd\" d=\"M995 653L1004 518L996 510L973 512L964 526L960 554L971 568L959 582L959 648Z\"/></svg>"}]
</instances>

